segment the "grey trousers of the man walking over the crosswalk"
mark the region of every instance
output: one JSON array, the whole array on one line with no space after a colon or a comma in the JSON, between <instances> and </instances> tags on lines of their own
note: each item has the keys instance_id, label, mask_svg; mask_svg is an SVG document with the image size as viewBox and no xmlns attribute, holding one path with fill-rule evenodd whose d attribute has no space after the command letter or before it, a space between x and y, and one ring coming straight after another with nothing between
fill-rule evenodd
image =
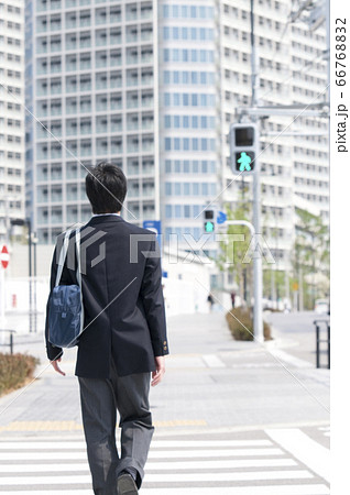
<instances>
[{"instance_id":1,"label":"grey trousers of the man walking over the crosswalk","mask_svg":"<svg viewBox=\"0 0 350 495\"><path fill-rule=\"evenodd\" d=\"M149 403L150 373L118 376L112 362L111 378L79 376L78 381L94 493L117 495L117 477L129 466L138 470L140 487L154 431ZM116 446L117 410L120 454Z\"/></svg>"}]
</instances>

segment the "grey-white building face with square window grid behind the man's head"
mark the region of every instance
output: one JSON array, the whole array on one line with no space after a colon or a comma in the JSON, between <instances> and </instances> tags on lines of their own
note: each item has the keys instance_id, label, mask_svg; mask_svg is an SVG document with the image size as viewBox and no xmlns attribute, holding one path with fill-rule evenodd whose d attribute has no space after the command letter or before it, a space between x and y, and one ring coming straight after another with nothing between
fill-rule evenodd
<instances>
[{"instance_id":1,"label":"grey-white building face with square window grid behind the man's head","mask_svg":"<svg viewBox=\"0 0 350 495\"><path fill-rule=\"evenodd\" d=\"M125 218L158 218L157 2L29 1L28 18L28 189L39 242L90 217L84 178L103 160L129 178Z\"/></svg>"}]
</instances>

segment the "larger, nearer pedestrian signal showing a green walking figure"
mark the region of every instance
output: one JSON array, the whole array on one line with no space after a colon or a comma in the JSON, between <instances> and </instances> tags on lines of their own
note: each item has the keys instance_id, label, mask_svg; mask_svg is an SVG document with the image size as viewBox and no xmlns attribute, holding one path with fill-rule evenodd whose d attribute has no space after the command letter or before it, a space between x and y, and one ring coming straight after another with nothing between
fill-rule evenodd
<instances>
[{"instance_id":1,"label":"larger, nearer pedestrian signal showing a green walking figure","mask_svg":"<svg viewBox=\"0 0 350 495\"><path fill-rule=\"evenodd\" d=\"M230 153L236 174L252 174L256 169L259 128L255 123L233 123L230 127Z\"/></svg>"}]
</instances>

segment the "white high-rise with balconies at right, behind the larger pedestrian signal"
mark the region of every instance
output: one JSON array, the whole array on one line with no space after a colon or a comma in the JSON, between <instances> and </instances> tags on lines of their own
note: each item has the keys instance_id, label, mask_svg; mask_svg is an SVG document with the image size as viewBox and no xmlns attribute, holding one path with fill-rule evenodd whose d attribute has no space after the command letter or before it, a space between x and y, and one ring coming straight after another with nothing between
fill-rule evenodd
<instances>
[{"instance_id":1,"label":"white high-rise with balconies at right, behind the larger pedestrian signal","mask_svg":"<svg viewBox=\"0 0 350 495\"><path fill-rule=\"evenodd\" d=\"M291 267L295 207L321 215L328 223L327 125L304 118L302 109L327 99L326 30L311 33L289 23L289 0L255 0L256 100L260 106L299 105L300 117L271 116L261 121L262 230L276 270ZM237 205L240 191L252 200L250 177L234 176L229 158L229 127L238 107L251 106L250 3L217 2L220 38L220 125L223 201ZM292 135L296 133L296 135ZM313 134L317 135L313 135ZM248 191L247 191L248 189Z\"/></svg>"}]
</instances>

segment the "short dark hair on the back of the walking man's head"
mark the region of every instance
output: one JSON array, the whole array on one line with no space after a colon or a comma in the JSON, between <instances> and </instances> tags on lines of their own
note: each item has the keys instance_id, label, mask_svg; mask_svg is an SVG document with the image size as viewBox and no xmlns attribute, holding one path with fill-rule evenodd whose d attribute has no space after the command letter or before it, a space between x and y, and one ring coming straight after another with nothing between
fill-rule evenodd
<instances>
[{"instance_id":1,"label":"short dark hair on the back of the walking man's head","mask_svg":"<svg viewBox=\"0 0 350 495\"><path fill-rule=\"evenodd\" d=\"M121 168L100 162L85 177L85 190L94 213L116 213L127 195L127 178Z\"/></svg>"}]
</instances>

